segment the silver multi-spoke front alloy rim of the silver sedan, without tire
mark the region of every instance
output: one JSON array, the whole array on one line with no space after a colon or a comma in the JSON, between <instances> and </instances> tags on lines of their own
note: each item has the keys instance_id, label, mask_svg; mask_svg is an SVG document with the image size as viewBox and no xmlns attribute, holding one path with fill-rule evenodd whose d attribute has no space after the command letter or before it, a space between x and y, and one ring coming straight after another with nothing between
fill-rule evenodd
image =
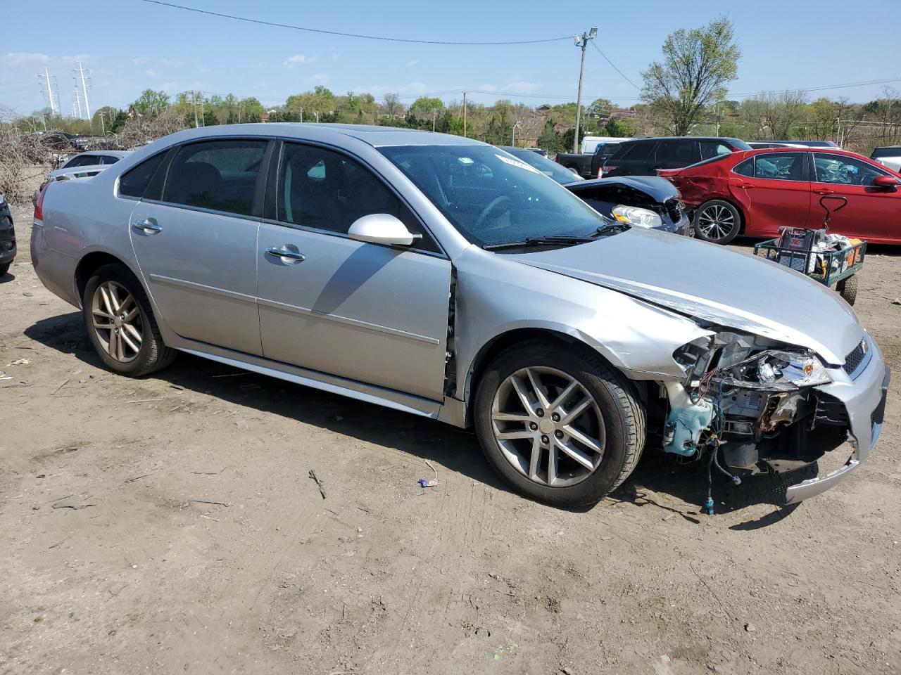
<instances>
[{"instance_id":1,"label":"silver multi-spoke front alloy rim of the silver sedan, without tire","mask_svg":"<svg viewBox=\"0 0 901 675\"><path fill-rule=\"evenodd\" d=\"M497 445L534 482L567 487L584 481L604 457L604 418L571 375L531 366L508 376L491 406Z\"/></svg>"}]
</instances>

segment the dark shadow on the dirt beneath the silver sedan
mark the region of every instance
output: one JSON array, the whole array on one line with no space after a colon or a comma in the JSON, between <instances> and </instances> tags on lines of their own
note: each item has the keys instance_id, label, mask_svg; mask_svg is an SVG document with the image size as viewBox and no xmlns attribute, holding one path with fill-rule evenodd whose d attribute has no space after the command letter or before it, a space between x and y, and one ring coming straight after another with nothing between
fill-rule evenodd
<instances>
[{"instance_id":1,"label":"dark shadow on the dirt beneath the silver sedan","mask_svg":"<svg viewBox=\"0 0 901 675\"><path fill-rule=\"evenodd\" d=\"M25 335L88 365L104 368L88 341L80 312L40 320L25 329ZM175 363L151 377L252 410L295 419L379 446L395 447L408 455L438 462L496 490L512 492L482 457L478 440L471 431L187 354L178 355ZM708 518L701 509L706 490L706 463L679 464L672 455L646 450L632 476L610 499L641 507L656 506L698 523ZM656 497L658 493L669 497L660 500ZM737 529L770 525L791 510L778 509L775 505L773 483L765 475L744 481L741 486L733 486L722 474L714 475L713 494L718 513L761 503L773 505L773 511L765 518L733 526ZM572 510L585 512L591 507Z\"/></svg>"}]
</instances>

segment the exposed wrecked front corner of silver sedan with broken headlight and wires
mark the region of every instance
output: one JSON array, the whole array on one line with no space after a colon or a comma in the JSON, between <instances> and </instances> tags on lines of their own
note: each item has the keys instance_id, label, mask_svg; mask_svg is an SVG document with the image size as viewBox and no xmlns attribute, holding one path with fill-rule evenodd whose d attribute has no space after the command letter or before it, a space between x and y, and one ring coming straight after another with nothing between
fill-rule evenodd
<instances>
[{"instance_id":1,"label":"exposed wrecked front corner of silver sedan with broken headlight and wires","mask_svg":"<svg viewBox=\"0 0 901 675\"><path fill-rule=\"evenodd\" d=\"M709 453L735 483L778 473L787 484L847 440L844 406L817 389L833 378L813 351L710 328L713 335L673 355L685 380L662 385L665 451L690 459Z\"/></svg>"}]
</instances>

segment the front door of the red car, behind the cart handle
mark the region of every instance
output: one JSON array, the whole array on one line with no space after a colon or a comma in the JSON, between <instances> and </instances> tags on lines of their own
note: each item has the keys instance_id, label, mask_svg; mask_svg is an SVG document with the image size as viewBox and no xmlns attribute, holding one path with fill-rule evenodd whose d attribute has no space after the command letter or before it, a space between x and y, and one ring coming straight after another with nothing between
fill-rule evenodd
<instances>
[{"instance_id":1,"label":"front door of the red car, behind the cart handle","mask_svg":"<svg viewBox=\"0 0 901 675\"><path fill-rule=\"evenodd\" d=\"M820 205L834 209L843 197L846 206L835 211L831 232L874 241L901 240L901 191L873 185L879 175L891 175L875 163L826 152L814 153L813 203L817 215L825 215ZM832 202L832 203L830 203Z\"/></svg>"}]
</instances>

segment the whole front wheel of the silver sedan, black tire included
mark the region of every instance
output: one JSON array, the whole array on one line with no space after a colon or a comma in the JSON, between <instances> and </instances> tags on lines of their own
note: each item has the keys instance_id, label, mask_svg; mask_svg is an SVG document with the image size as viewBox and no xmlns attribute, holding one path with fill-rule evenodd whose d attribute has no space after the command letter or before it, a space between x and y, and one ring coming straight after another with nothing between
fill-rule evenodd
<instances>
[{"instance_id":1,"label":"whole front wheel of the silver sedan, black tire included","mask_svg":"<svg viewBox=\"0 0 901 675\"><path fill-rule=\"evenodd\" d=\"M539 410L532 377L543 387L545 402L557 404L550 412ZM571 383L569 397L561 396ZM519 393L523 387L530 412ZM588 398L584 412L565 423ZM529 341L506 350L479 381L474 405L488 463L517 491L552 506L596 504L629 477L642 455L645 410L633 385L587 347ZM582 440L595 442L601 452ZM578 451L579 462L560 449L564 444ZM558 457L555 475L551 452Z\"/></svg>"}]
</instances>

